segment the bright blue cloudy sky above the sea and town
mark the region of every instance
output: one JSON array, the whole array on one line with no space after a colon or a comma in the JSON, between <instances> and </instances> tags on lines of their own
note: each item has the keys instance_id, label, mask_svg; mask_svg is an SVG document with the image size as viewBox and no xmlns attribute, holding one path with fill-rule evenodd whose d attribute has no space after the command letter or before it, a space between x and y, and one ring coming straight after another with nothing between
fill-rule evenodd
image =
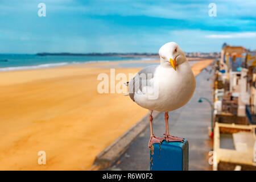
<instances>
[{"instance_id":1,"label":"bright blue cloudy sky above the sea and town","mask_svg":"<svg viewBox=\"0 0 256 182\"><path fill-rule=\"evenodd\" d=\"M157 53L167 42L185 52L220 52L224 42L254 50L255 0L0 0L0 53Z\"/></svg>"}]
</instances>

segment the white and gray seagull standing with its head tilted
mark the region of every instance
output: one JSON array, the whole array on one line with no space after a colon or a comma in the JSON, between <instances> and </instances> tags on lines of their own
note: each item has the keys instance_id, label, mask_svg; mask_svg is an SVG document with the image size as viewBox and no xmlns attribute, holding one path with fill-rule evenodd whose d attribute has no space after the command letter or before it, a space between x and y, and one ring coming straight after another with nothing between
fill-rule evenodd
<instances>
[{"instance_id":1,"label":"white and gray seagull standing with its head tilted","mask_svg":"<svg viewBox=\"0 0 256 182\"><path fill-rule=\"evenodd\" d=\"M184 142L183 138L170 135L168 129L168 112L184 106L193 96L196 88L196 79L193 75L185 53L175 42L164 44L159 49L160 65L151 65L143 68L129 82L131 100L139 106L148 109L150 121L150 140L148 147L153 143ZM152 112L164 112L166 132L164 137L155 137L152 128Z\"/></svg>"}]
</instances>

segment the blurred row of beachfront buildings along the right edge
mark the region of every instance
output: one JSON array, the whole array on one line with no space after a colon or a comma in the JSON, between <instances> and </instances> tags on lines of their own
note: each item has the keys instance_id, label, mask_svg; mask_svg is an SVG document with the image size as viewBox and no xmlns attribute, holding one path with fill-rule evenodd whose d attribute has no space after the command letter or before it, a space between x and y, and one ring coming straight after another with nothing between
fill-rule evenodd
<instances>
[{"instance_id":1,"label":"blurred row of beachfront buildings along the right edge","mask_svg":"<svg viewBox=\"0 0 256 182\"><path fill-rule=\"evenodd\" d=\"M214 170L256 170L255 58L224 44L214 65Z\"/></svg>"}]
</instances>

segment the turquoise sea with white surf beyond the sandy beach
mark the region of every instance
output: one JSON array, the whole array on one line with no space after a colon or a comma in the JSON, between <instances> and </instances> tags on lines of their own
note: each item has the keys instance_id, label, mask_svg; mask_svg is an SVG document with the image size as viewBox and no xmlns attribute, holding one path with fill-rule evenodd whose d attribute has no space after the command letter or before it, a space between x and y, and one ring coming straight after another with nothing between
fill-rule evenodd
<instances>
[{"instance_id":1,"label":"turquoise sea with white surf beyond the sandy beach","mask_svg":"<svg viewBox=\"0 0 256 182\"><path fill-rule=\"evenodd\" d=\"M0 72L61 67L69 64L104 63L110 61L127 60L154 60L154 58L125 56L39 56L36 54L0 54Z\"/></svg>"}]
</instances>

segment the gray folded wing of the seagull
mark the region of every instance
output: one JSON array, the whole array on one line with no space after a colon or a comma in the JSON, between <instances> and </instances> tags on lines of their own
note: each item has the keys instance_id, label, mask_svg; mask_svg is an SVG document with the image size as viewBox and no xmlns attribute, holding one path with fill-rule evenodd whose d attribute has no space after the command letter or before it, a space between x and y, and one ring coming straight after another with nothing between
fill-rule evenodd
<instances>
[{"instance_id":1,"label":"gray folded wing of the seagull","mask_svg":"<svg viewBox=\"0 0 256 182\"><path fill-rule=\"evenodd\" d=\"M159 65L151 65L143 68L129 81L129 96L131 100L134 101L134 93L138 92L138 90L142 90L142 86L151 86L150 82L147 80L154 77L155 70L158 67Z\"/></svg>"}]
</instances>

